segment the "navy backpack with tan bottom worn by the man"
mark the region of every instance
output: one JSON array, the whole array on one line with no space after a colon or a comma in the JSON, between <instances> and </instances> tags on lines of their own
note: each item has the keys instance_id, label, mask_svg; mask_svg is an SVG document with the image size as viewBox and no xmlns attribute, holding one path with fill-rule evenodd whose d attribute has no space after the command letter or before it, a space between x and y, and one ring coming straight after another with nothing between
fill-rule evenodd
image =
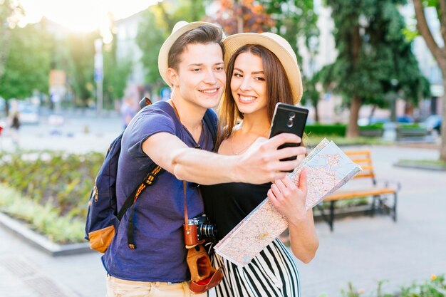
<instances>
[{"instance_id":1,"label":"navy backpack with tan bottom worn by the man","mask_svg":"<svg viewBox=\"0 0 446 297\"><path fill-rule=\"evenodd\" d=\"M150 105L150 99L142 98L141 107ZM216 123L213 123L212 112L207 110L204 114L204 122L209 127L212 134L212 140L216 139ZM162 168L155 163L150 167L149 173L142 180L140 185L130 194L118 212L116 202L116 175L118 172L118 160L121 151L122 132L108 148L103 165L100 167L95 184L91 190L88 200L88 213L85 222L85 239L90 241L90 249L105 253L110 246L115 232L118 230L120 220L130 207L131 214L128 221L128 246L135 249L135 241L133 239L133 211L135 202L142 191L153 184L157 174L162 172Z\"/></svg>"}]
</instances>

